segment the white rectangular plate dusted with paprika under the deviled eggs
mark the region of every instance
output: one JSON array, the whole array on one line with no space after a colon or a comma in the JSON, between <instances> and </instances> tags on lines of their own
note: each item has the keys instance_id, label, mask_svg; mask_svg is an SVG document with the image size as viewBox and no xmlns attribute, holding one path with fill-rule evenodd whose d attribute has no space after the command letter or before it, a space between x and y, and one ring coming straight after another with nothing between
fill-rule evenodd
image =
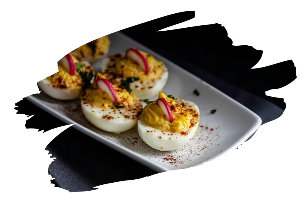
<instances>
[{"instance_id":1,"label":"white rectangular plate dusted with paprika under the deviled eggs","mask_svg":"<svg viewBox=\"0 0 305 207\"><path fill-rule=\"evenodd\" d=\"M58 101L41 90L29 93L25 98L66 124L160 173L202 168L206 163L231 154L259 129L262 121L257 114L195 75L120 32L109 33L109 39L111 46L108 55L124 53L127 48L135 46L163 61L169 70L163 93L198 105L198 133L188 145L171 152L157 151L142 142L137 127L120 135L95 128L82 114L80 100ZM93 65L96 72L100 72L100 64L101 61ZM195 89L199 91L199 96L193 94ZM210 114L213 109L217 109L216 113Z\"/></svg>"}]
</instances>

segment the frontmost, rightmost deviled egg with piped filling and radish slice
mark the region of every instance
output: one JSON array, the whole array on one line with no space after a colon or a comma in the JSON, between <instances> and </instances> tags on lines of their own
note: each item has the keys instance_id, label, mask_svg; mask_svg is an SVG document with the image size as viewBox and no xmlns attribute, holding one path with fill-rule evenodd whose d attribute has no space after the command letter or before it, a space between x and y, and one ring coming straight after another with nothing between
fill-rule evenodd
<instances>
[{"instance_id":1,"label":"frontmost, rightmost deviled egg with piped filling and radish slice","mask_svg":"<svg viewBox=\"0 0 305 207\"><path fill-rule=\"evenodd\" d=\"M138 133L153 149L179 149L196 134L199 108L195 103L162 92L157 100L145 101L147 105L138 119Z\"/></svg>"}]
</instances>

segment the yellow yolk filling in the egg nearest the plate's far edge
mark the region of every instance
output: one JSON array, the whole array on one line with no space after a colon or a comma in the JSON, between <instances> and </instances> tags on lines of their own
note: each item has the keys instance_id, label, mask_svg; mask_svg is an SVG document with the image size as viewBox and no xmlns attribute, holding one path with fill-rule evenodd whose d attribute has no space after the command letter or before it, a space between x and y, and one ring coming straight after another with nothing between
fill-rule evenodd
<instances>
[{"instance_id":1,"label":"yellow yolk filling in the egg nearest the plate's far edge","mask_svg":"<svg viewBox=\"0 0 305 207\"><path fill-rule=\"evenodd\" d=\"M116 63L117 71L124 79L137 77L141 81L154 80L162 74L163 62L156 60L152 55L139 51L146 59L149 65L149 73L145 74L144 70L134 61L128 58L122 58Z\"/></svg>"}]
</instances>

